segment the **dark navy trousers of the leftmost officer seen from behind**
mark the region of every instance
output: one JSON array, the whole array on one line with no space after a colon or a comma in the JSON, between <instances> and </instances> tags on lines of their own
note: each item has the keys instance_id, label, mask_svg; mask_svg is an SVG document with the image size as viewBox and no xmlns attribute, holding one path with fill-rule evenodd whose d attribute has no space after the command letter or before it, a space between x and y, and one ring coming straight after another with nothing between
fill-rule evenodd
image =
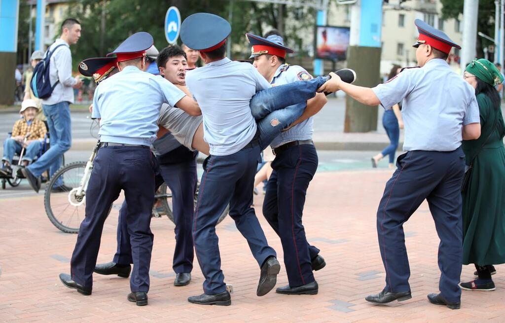
<instances>
[{"instance_id":1,"label":"dark navy trousers of the leftmost officer seen from behind","mask_svg":"<svg viewBox=\"0 0 505 323\"><path fill-rule=\"evenodd\" d=\"M98 149L86 191L86 214L70 262L72 279L91 287L104 222L124 190L126 225L132 246L132 292L149 290L153 234L149 229L155 191L155 157L149 147L107 146Z\"/></svg>"}]
</instances>

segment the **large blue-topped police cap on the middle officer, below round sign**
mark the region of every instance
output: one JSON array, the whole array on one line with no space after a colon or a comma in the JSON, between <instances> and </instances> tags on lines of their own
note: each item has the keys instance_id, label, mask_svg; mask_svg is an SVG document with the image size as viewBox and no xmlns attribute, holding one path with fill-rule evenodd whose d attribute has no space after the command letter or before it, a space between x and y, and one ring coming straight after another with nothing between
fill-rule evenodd
<instances>
[{"instance_id":1,"label":"large blue-topped police cap on the middle officer, below round sign","mask_svg":"<svg viewBox=\"0 0 505 323\"><path fill-rule=\"evenodd\" d=\"M200 12L184 19L181 24L181 40L191 49L212 51L221 47L231 33L226 19Z\"/></svg>"}]
</instances>

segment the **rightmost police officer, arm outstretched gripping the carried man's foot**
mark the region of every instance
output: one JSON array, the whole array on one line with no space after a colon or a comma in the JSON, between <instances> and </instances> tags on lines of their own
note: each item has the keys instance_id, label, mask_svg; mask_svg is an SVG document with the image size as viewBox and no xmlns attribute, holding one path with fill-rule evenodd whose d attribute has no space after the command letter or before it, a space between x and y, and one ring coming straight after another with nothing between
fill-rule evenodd
<instances>
[{"instance_id":1,"label":"rightmost police officer, arm outstretched gripping the carried man's foot","mask_svg":"<svg viewBox=\"0 0 505 323\"><path fill-rule=\"evenodd\" d=\"M403 70L373 89L340 83L358 101L389 109L403 100L407 153L387 182L377 210L377 233L386 271L386 287L367 301L384 304L410 299L410 268L403 223L426 199L440 238L440 293L428 295L433 304L461 306L462 263L461 186L465 172L462 139L480 136L479 107L474 89L452 72L445 61L458 47L445 33L416 19L419 38L414 45L420 68ZM324 86L323 86L324 87Z\"/></svg>"}]
</instances>

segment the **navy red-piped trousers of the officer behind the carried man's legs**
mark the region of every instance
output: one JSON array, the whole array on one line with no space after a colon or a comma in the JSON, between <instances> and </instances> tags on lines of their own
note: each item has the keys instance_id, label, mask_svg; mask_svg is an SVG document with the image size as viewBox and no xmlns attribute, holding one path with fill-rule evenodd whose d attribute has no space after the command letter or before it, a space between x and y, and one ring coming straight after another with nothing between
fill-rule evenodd
<instances>
[{"instance_id":1,"label":"navy red-piped trousers of the officer behind the carried man's legs","mask_svg":"<svg viewBox=\"0 0 505 323\"><path fill-rule=\"evenodd\" d=\"M272 162L263 215L280 237L289 286L314 282L311 260L319 249L311 246L301 223L305 196L318 166L314 145L292 146L279 152Z\"/></svg>"}]
</instances>

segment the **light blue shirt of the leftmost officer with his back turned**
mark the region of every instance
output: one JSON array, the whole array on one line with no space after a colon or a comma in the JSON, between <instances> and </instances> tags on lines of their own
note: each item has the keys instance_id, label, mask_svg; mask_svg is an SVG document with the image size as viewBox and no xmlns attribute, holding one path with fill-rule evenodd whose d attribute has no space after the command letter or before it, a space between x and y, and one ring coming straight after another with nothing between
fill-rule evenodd
<instances>
[{"instance_id":1,"label":"light blue shirt of the leftmost officer with his back turned","mask_svg":"<svg viewBox=\"0 0 505 323\"><path fill-rule=\"evenodd\" d=\"M100 141L150 146L163 103L175 106L186 94L160 76L126 66L96 87L92 118L100 118Z\"/></svg>"}]
</instances>

